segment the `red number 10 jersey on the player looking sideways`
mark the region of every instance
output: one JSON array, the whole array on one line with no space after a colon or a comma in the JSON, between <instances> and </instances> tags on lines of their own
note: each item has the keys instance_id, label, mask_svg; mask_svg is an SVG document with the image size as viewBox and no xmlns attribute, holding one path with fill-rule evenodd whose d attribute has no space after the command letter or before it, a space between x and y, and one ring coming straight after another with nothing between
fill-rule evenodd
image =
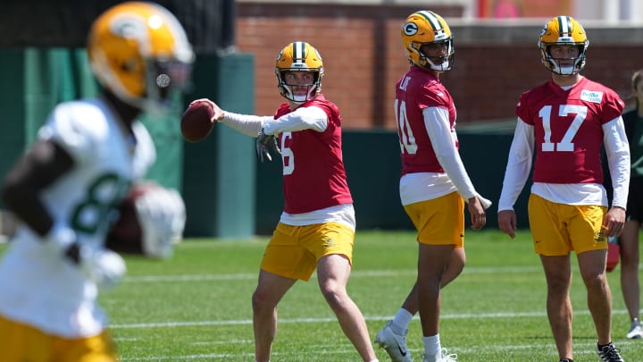
<instances>
[{"instance_id":1,"label":"red number 10 jersey on the player looking sideways","mask_svg":"<svg viewBox=\"0 0 643 362\"><path fill-rule=\"evenodd\" d=\"M448 110L451 134L457 148L453 98L435 74L413 66L396 85L395 112L402 156L402 175L444 173L424 125L422 111L429 107Z\"/></svg>"}]
</instances>

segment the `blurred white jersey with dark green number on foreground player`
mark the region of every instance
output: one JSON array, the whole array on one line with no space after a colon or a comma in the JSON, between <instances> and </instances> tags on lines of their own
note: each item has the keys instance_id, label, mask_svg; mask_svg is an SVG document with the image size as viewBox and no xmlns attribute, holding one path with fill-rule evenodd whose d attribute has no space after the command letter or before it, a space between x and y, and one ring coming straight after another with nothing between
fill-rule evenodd
<instances>
[{"instance_id":1,"label":"blurred white jersey with dark green number on foreground player","mask_svg":"<svg viewBox=\"0 0 643 362\"><path fill-rule=\"evenodd\" d=\"M156 154L145 126L125 136L103 99L56 106L39 139L50 139L73 158L74 168L42 194L54 223L71 227L81 243L104 243L113 210ZM105 316L96 284L86 280L51 244L19 226L0 264L0 314L67 338L101 333Z\"/></svg>"}]
</instances>

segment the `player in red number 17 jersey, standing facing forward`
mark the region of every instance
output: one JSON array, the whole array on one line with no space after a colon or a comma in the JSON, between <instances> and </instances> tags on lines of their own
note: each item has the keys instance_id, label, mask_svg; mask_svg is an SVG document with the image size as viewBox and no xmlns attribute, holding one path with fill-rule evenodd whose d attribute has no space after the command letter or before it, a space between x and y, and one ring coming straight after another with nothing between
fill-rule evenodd
<instances>
[{"instance_id":1,"label":"player in red number 17 jersey, standing facing forward","mask_svg":"<svg viewBox=\"0 0 643 362\"><path fill-rule=\"evenodd\" d=\"M530 174L530 231L547 279L547 316L561 361L572 360L571 252L576 253L597 331L597 354L622 361L612 344L612 295L605 277L607 238L622 232L630 179L630 150L616 93L580 75L589 46L569 16L548 21L539 37L552 79L522 93L498 226L515 236L514 203ZM612 207L602 185L601 147L614 185Z\"/></svg>"}]
</instances>

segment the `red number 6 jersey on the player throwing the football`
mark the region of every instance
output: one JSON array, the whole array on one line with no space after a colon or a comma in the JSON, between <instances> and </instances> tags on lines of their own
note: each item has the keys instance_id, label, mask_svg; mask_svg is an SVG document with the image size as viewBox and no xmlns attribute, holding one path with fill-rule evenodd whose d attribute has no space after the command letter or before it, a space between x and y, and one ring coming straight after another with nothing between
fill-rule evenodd
<instances>
[{"instance_id":1,"label":"red number 6 jersey on the player throwing the football","mask_svg":"<svg viewBox=\"0 0 643 362\"><path fill-rule=\"evenodd\" d=\"M351 204L341 147L341 115L338 107L323 95L301 107L316 106L328 115L326 130L297 130L280 133L283 162L284 211L308 213L330 206ZM292 112L280 105L275 119Z\"/></svg>"}]
</instances>

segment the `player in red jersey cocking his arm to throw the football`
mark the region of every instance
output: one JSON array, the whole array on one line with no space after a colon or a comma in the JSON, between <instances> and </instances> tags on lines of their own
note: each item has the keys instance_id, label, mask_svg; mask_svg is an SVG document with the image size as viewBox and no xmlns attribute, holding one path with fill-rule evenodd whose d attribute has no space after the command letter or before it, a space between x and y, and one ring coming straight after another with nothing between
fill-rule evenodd
<instances>
[{"instance_id":1,"label":"player in red jersey cocking his arm to throw the football","mask_svg":"<svg viewBox=\"0 0 643 362\"><path fill-rule=\"evenodd\" d=\"M321 94L321 55L309 43L284 47L275 66L288 99L273 116L233 114L213 105L216 121L256 139L263 162L283 163L285 206L261 263L252 298L255 358L268 362L277 332L277 305L297 280L317 269L321 293L364 361L376 361L362 312L347 294L353 259L355 211L341 149L338 107Z\"/></svg>"}]
</instances>

